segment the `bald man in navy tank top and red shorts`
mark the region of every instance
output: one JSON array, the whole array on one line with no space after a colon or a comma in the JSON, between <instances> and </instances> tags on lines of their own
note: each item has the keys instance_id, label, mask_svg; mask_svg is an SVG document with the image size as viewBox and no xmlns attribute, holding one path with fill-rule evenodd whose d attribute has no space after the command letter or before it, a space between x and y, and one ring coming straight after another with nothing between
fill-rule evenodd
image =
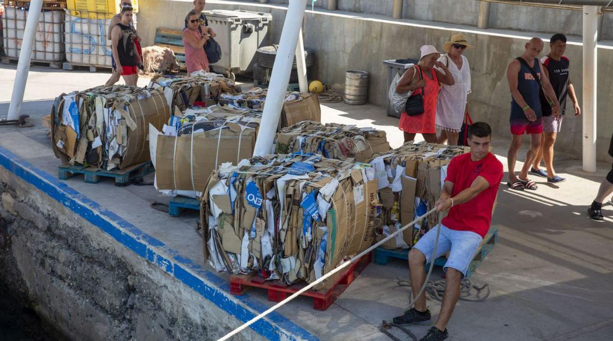
<instances>
[{"instance_id":1,"label":"bald man in navy tank top and red shorts","mask_svg":"<svg viewBox=\"0 0 613 341\"><path fill-rule=\"evenodd\" d=\"M534 181L528 179L528 170L535 162L541 149L541 134L543 133L543 111L539 99L539 89L548 97L548 104L554 116L560 114L560 103L554 89L549 83L538 55L543 51L543 40L532 38L525 45L524 54L513 59L506 69L506 78L511 89L511 146L507 154L509 162L509 182L507 185L514 190L536 190ZM524 167L516 176L515 163L517 152L522 148L522 135L530 134L530 149L526 154Z\"/></svg>"}]
</instances>

